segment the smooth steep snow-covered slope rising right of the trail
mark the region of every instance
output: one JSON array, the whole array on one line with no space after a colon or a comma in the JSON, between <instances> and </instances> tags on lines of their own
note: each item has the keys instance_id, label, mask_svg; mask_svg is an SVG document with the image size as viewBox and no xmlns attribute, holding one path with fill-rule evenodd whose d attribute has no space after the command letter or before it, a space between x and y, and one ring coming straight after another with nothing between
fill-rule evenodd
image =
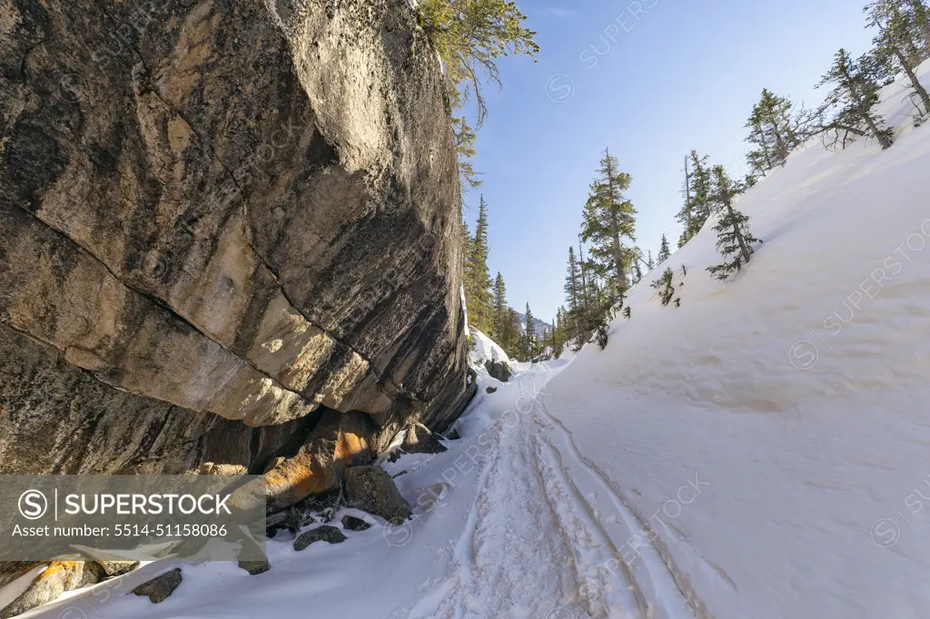
<instances>
[{"instance_id":1,"label":"smooth steep snow-covered slope rising right of the trail","mask_svg":"<svg viewBox=\"0 0 930 619\"><path fill-rule=\"evenodd\" d=\"M739 204L746 270L711 280L709 222L547 389L718 619L930 616L930 127L902 91L893 148L796 152Z\"/></svg>"}]
</instances>

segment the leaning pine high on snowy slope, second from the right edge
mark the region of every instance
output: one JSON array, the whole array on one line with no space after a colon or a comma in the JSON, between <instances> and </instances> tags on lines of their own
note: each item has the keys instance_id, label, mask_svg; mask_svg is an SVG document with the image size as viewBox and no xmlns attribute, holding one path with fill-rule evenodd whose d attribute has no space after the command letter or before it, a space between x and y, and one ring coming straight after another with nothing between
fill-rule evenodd
<instances>
[{"instance_id":1,"label":"leaning pine high on snowy slope, second from the right edge","mask_svg":"<svg viewBox=\"0 0 930 619\"><path fill-rule=\"evenodd\" d=\"M894 132L884 126L879 114L872 111L879 100L876 75L876 66L870 59L854 61L849 52L840 49L830 72L823 76L817 87L833 85L821 107L823 112L834 112L834 120L825 128L875 138L883 149L887 149L894 141Z\"/></svg>"}]
</instances>

